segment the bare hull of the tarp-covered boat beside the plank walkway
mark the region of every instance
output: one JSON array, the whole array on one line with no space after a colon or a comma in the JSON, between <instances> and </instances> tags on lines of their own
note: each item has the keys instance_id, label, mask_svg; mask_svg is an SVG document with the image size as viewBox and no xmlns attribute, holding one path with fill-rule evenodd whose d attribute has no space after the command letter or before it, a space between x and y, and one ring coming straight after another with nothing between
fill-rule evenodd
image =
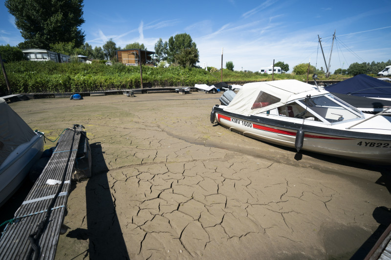
<instances>
[{"instance_id":1,"label":"bare hull of the tarp-covered boat beside the plank walkway","mask_svg":"<svg viewBox=\"0 0 391 260\"><path fill-rule=\"evenodd\" d=\"M0 167L0 206L20 187L30 168L43 153L43 135L37 133L29 142L15 149Z\"/></svg>"}]
</instances>

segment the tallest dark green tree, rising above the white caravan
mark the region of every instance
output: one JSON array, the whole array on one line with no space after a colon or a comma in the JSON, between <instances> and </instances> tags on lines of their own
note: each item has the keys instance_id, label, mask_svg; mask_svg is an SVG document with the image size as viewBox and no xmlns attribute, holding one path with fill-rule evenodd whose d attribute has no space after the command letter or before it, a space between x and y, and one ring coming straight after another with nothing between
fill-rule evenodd
<instances>
[{"instance_id":1,"label":"tallest dark green tree, rising above the white caravan","mask_svg":"<svg viewBox=\"0 0 391 260\"><path fill-rule=\"evenodd\" d=\"M78 48L84 43L79 28L85 22L83 0L6 0L5 6L24 38L20 47L48 49L51 43L74 40Z\"/></svg>"}]
</instances>

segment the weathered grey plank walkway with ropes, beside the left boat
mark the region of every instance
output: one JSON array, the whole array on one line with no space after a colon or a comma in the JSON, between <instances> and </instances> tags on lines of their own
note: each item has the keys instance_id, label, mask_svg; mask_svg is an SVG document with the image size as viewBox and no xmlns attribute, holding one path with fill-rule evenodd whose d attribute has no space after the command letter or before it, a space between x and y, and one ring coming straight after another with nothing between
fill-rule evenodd
<instances>
[{"instance_id":1,"label":"weathered grey plank walkway with ropes, beside the left boat","mask_svg":"<svg viewBox=\"0 0 391 260\"><path fill-rule=\"evenodd\" d=\"M83 126L65 130L43 173L0 239L0 259L54 259ZM56 185L47 180L59 180Z\"/></svg>"}]
</instances>

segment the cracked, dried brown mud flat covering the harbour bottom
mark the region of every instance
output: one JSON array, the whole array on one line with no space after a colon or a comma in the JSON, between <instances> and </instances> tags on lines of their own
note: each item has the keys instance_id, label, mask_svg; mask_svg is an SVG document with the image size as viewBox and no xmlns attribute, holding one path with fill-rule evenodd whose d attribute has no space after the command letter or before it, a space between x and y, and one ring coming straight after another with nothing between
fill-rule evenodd
<instances>
[{"instance_id":1,"label":"cracked, dried brown mud flat covering the harbour bottom","mask_svg":"<svg viewBox=\"0 0 391 260\"><path fill-rule=\"evenodd\" d=\"M93 176L72 185L56 259L363 258L391 219L387 168L299 160L213 125L219 96L11 103L52 140L88 134Z\"/></svg>"}]
</instances>

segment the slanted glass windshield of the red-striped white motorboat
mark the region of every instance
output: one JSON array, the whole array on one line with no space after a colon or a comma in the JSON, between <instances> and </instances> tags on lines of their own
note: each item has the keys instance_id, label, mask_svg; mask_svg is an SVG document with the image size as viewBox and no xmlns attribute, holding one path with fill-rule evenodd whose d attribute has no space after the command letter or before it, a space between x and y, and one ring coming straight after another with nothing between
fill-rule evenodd
<instances>
[{"instance_id":1,"label":"slanted glass windshield of the red-striped white motorboat","mask_svg":"<svg viewBox=\"0 0 391 260\"><path fill-rule=\"evenodd\" d=\"M298 102L304 104L309 111L315 112L330 123L361 118L358 111L358 114L356 114L348 110L345 106L342 106L337 101L341 102L340 100L336 100L332 95L306 97L305 99L298 100ZM347 105L350 108L350 105L344 105Z\"/></svg>"}]
</instances>

